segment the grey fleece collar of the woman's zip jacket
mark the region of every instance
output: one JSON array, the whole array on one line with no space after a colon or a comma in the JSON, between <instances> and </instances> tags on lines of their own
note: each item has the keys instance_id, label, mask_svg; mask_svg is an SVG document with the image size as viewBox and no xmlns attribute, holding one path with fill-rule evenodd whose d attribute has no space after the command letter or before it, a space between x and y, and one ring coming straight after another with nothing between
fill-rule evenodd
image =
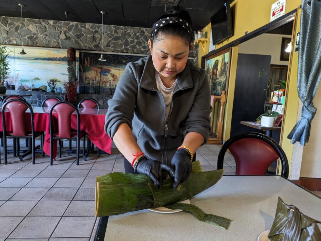
<instances>
[{"instance_id":1,"label":"grey fleece collar of the woman's zip jacket","mask_svg":"<svg viewBox=\"0 0 321 241\"><path fill-rule=\"evenodd\" d=\"M194 87L189 65L190 63L187 61L184 70L178 74L175 90ZM152 56L149 55L146 59L143 74L139 82L139 87L149 90L158 90L155 80L155 71L156 70L153 65Z\"/></svg>"}]
</instances>

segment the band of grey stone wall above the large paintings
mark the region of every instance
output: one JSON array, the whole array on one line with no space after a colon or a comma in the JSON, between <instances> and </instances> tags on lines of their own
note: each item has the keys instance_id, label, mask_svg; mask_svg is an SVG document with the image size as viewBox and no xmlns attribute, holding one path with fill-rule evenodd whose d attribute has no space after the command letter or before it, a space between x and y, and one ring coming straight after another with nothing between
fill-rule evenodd
<instances>
[{"instance_id":1,"label":"band of grey stone wall above the large paintings","mask_svg":"<svg viewBox=\"0 0 321 241\"><path fill-rule=\"evenodd\" d=\"M104 25L103 50L106 52L149 54L150 28ZM101 51L101 25L81 22L21 19L0 16L0 43L26 46ZM190 56L198 56L195 46ZM67 68L67 66L66 66Z\"/></svg>"}]
</instances>

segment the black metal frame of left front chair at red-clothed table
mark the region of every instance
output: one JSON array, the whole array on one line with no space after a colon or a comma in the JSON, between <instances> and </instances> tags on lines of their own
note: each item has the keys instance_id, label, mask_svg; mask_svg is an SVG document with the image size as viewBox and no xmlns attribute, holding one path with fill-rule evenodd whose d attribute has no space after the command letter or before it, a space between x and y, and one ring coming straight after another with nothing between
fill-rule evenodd
<instances>
[{"instance_id":1,"label":"black metal frame of left front chair at red-clothed table","mask_svg":"<svg viewBox=\"0 0 321 241\"><path fill-rule=\"evenodd\" d=\"M6 126L5 126L5 116L4 116L4 112L5 112L5 107L14 101L18 101L21 102L23 104L25 104L29 111L30 111L30 118L31 118L31 136L27 135L27 136L12 136L12 135L7 135L7 131L6 131ZM8 101L4 102L4 105L2 106L2 110L1 110L1 116L2 116L2 130L3 130L3 139L4 139L4 143L3 143L3 149L4 149L4 164L7 164L7 138L13 138L13 144L16 144L16 150L15 150L15 145L14 145L14 156L19 155L20 154L20 144L19 144L19 138L26 138L26 140L28 139L29 141L29 150L27 152L24 152L23 154L21 154L19 156L19 159L22 160L24 157L26 157L27 155L29 155L31 153L32 155L32 164L35 164L35 151L36 149L39 149L40 147L42 148L42 156L45 156L45 153L43 152L43 142L44 142L44 132L35 132L35 125L34 125L34 116L33 116L33 109L30 106L30 104L27 101L24 101L22 99L11 99ZM35 138L37 136L41 136L41 145L35 146ZM16 151L16 153L15 153Z\"/></svg>"}]
</instances>

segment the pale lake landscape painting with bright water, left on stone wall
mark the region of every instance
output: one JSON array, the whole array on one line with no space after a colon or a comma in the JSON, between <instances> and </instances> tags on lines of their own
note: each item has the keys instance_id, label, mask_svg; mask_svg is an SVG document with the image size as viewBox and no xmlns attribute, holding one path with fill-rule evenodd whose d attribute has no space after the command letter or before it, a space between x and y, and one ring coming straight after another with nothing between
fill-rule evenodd
<instances>
[{"instance_id":1,"label":"pale lake landscape painting with bright water, left on stone wall","mask_svg":"<svg viewBox=\"0 0 321 241\"><path fill-rule=\"evenodd\" d=\"M68 82L67 50L24 47L27 55L19 55L21 46L7 46L10 52L11 72L5 81L8 89L47 89L50 79L56 79L56 87Z\"/></svg>"}]
</instances>

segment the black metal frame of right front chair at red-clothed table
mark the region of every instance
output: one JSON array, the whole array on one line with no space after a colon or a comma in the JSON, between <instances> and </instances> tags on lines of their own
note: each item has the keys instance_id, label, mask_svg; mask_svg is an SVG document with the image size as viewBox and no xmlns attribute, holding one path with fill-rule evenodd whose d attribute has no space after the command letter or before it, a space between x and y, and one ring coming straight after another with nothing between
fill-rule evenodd
<instances>
[{"instance_id":1,"label":"black metal frame of right front chair at red-clothed table","mask_svg":"<svg viewBox=\"0 0 321 241\"><path fill-rule=\"evenodd\" d=\"M76 115L77 115L77 137L70 137L70 138L66 138L66 137L54 137L53 136L53 119L52 119L52 111L54 110L54 108L59 105L59 104L68 104L70 106L72 106L75 111L76 111ZM76 151L76 165L79 165L79 152L80 152L80 114L79 114L79 110L69 101L65 101L65 100L61 100L55 104L53 104L53 106L50 108L50 112L49 112L49 127L50 127L50 166L53 165L53 156L52 156L52 152L53 152L53 140L58 140L59 141L59 157L61 157L61 140L76 140L77 141L77 151ZM84 155L85 153L85 135L83 135L83 139L82 139L82 155ZM71 147L70 147L71 148Z\"/></svg>"}]
</instances>

